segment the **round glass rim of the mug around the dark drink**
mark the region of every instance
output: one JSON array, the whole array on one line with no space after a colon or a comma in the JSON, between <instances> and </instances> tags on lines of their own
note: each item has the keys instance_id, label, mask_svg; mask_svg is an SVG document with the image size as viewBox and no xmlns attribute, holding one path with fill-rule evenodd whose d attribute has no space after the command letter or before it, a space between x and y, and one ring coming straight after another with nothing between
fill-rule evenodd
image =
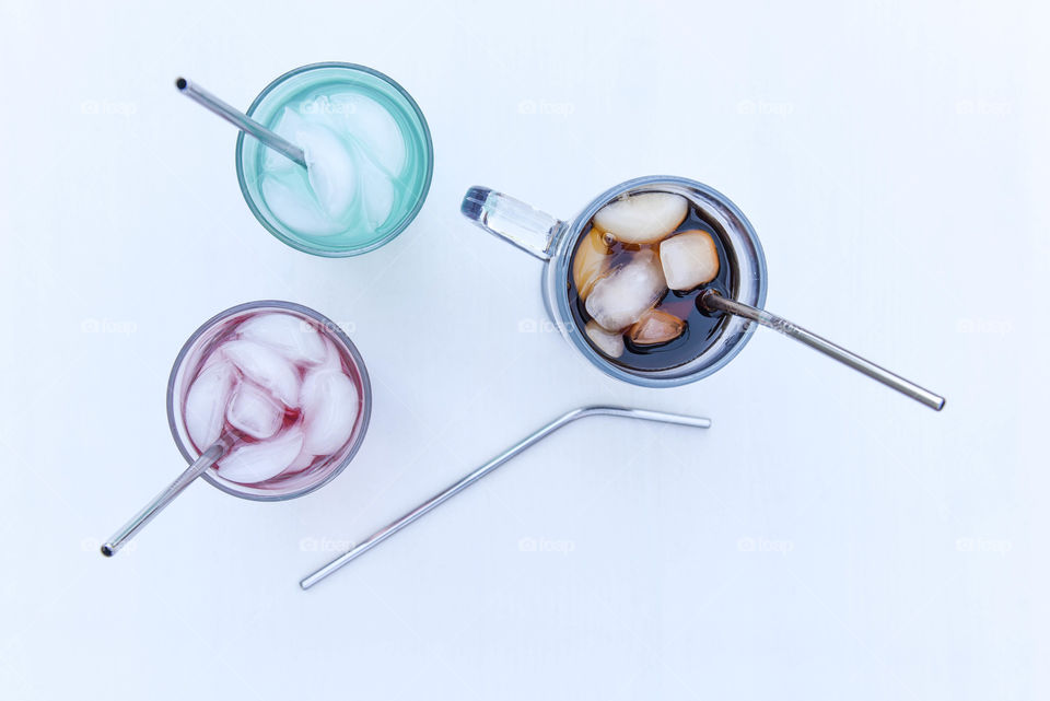
<instances>
[{"instance_id":1,"label":"round glass rim of the mug around the dark drink","mask_svg":"<svg viewBox=\"0 0 1050 701\"><path fill-rule=\"evenodd\" d=\"M580 212L580 214L562 225L561 231L558 233L557 253L548 262L552 277L548 278L547 292L551 294L552 299L556 301L557 309L548 307L547 311L548 314L550 314L550 316L555 318L556 322L558 322L562 327L562 335L567 337L569 342L575 349L578 349L592 365L604 372L606 375L642 387L678 387L702 379L724 367L730 361L736 358L742 350L744 350L744 347L751 339L751 336L754 336L757 324L749 324L746 322L746 319L738 319L742 323L739 325L742 330L735 334L736 338L730 341L722 355L710 364L699 365L697 369L690 372L685 372L682 374L663 374L674 373L675 371L687 367L697 360L702 359L707 351L687 363L662 371L630 370L610 362L605 357L600 355L598 351L591 346L591 343L582 338L583 329L576 328L576 325L573 320L572 311L569 308L569 288L568 285L560 284L558 282L559 280L564 280L565 276L569 274L569 268L572 262L573 246L575 242L579 241L584 224L591 221L598 209L606 205L610 199L626 191L646 186L658 187L660 185L670 185L702 192L710 199L716 201L719 205L725 207L725 209L733 214L734 219L739 221L739 233L747 239L754 252L754 255L749 257L752 259L756 270L757 290L755 295L756 299L754 302L751 302L751 304L752 306L757 307L763 307L766 305L766 290L768 282L766 254L762 250L762 245L758 238L758 234L755 232L755 227L751 225L750 221L748 221L747 217L744 215L744 212L740 211L740 209L725 195L713 187L704 185L703 183L676 175L646 175L632 178L630 180L625 180L619 185L610 187L591 200L591 202L583 209L582 212ZM732 248L732 254L734 256L742 255L742 252L737 250L735 246L732 246L728 242L725 243L727 247ZM737 283L739 284L739 281ZM551 285L553 285L553 288L551 288ZM544 299L547 300L548 296L545 294ZM730 325L726 325L719 336L721 337L725 335L728 328Z\"/></svg>"}]
</instances>

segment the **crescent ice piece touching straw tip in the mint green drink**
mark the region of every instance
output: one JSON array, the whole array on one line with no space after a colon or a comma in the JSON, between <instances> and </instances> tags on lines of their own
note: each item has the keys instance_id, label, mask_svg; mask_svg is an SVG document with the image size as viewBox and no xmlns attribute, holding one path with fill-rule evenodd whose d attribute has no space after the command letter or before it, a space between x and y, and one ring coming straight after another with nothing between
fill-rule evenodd
<instances>
[{"instance_id":1,"label":"crescent ice piece touching straw tip in the mint green drink","mask_svg":"<svg viewBox=\"0 0 1050 701\"><path fill-rule=\"evenodd\" d=\"M295 144L306 156L306 176L320 209L331 219L346 219L358 179L358 166L346 142L327 127L306 122L295 132Z\"/></svg>"}]
</instances>

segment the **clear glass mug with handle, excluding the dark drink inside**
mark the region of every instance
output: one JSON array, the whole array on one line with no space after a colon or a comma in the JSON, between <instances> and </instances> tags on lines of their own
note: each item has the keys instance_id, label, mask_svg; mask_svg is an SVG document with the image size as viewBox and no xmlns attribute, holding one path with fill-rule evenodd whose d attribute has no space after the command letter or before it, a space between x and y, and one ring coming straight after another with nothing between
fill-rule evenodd
<instances>
[{"instance_id":1,"label":"clear glass mug with handle, excluding the dark drink inside","mask_svg":"<svg viewBox=\"0 0 1050 701\"><path fill-rule=\"evenodd\" d=\"M541 292L547 313L562 336L592 365L607 375L643 387L674 387L716 372L755 332L755 325L730 316L707 350L693 360L667 370L633 370L609 362L583 338L570 311L572 255L594 214L621 195L660 191L681 195L696 207L721 238L732 268L732 297L744 304L766 304L766 256L755 229L727 197L702 183L669 175L634 178L609 188L576 217L561 221L529 205L486 187L470 188L460 211L478 226L545 261Z\"/></svg>"}]
</instances>

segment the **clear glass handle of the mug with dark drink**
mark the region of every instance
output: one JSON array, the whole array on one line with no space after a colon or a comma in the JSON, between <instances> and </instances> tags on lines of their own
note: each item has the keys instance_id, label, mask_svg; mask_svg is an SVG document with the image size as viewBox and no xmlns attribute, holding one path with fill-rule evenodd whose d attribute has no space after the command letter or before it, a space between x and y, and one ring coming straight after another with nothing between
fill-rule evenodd
<instances>
[{"instance_id":1,"label":"clear glass handle of the mug with dark drink","mask_svg":"<svg viewBox=\"0 0 1050 701\"><path fill-rule=\"evenodd\" d=\"M540 260L550 260L555 237L564 222L522 200L487 187L471 187L459 206L463 215Z\"/></svg>"}]
</instances>

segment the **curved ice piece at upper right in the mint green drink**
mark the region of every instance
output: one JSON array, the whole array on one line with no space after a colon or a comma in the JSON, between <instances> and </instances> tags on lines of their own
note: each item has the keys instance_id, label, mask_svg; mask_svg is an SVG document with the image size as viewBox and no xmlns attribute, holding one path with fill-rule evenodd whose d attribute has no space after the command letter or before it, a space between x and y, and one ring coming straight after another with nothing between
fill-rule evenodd
<instances>
[{"instance_id":1,"label":"curved ice piece at upper right in the mint green drink","mask_svg":"<svg viewBox=\"0 0 1050 701\"><path fill-rule=\"evenodd\" d=\"M392 177L405 167L405 137L387 109L376 101L357 93L337 93L328 97L337 133L349 133L365 154Z\"/></svg>"}]
</instances>

